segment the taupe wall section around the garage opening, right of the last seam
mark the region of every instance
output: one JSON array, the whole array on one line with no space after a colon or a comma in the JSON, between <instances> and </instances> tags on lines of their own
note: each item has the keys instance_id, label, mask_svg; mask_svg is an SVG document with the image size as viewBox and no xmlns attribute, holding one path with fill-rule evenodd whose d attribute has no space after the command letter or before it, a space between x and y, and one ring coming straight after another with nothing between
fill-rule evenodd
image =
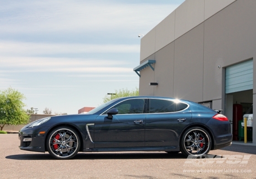
<instances>
[{"instance_id":1,"label":"taupe wall section around the garage opening, right of the last seam","mask_svg":"<svg viewBox=\"0 0 256 179\"><path fill-rule=\"evenodd\" d=\"M256 57L255 8L237 0L204 22L203 100L222 98L222 68Z\"/></svg>"}]
</instances>

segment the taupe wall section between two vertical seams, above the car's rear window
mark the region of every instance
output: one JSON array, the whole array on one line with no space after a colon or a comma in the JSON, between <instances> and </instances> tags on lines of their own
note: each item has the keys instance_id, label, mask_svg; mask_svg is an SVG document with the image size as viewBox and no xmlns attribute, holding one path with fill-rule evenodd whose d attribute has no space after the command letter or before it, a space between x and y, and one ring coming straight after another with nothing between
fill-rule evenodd
<instances>
[{"instance_id":1,"label":"taupe wall section between two vertical seams, above the car's rear window","mask_svg":"<svg viewBox=\"0 0 256 179\"><path fill-rule=\"evenodd\" d=\"M203 24L178 38L174 52L173 97L203 101Z\"/></svg>"}]
</instances>

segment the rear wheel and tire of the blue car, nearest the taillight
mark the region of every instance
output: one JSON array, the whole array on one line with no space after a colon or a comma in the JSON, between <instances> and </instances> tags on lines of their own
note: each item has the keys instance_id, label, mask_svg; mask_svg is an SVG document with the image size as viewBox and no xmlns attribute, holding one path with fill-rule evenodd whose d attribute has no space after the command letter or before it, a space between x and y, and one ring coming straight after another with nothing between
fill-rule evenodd
<instances>
[{"instance_id":1,"label":"rear wheel and tire of the blue car, nearest the taillight","mask_svg":"<svg viewBox=\"0 0 256 179\"><path fill-rule=\"evenodd\" d=\"M180 145L183 155L202 156L211 150L212 139L205 129L192 127L184 132Z\"/></svg>"}]
</instances>

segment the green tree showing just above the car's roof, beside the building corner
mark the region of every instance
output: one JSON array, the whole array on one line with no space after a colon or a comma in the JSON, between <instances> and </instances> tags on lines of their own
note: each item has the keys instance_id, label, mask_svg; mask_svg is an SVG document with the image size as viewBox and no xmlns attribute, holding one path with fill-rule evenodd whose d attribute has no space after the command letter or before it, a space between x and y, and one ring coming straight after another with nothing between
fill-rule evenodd
<instances>
[{"instance_id":1,"label":"green tree showing just above the car's roof, beside the building corner","mask_svg":"<svg viewBox=\"0 0 256 179\"><path fill-rule=\"evenodd\" d=\"M126 96L139 96L139 89L136 87L135 89L128 90L128 89L115 89L116 95L105 95L103 98L103 103L106 103L107 101L115 98L121 98Z\"/></svg>"}]
</instances>

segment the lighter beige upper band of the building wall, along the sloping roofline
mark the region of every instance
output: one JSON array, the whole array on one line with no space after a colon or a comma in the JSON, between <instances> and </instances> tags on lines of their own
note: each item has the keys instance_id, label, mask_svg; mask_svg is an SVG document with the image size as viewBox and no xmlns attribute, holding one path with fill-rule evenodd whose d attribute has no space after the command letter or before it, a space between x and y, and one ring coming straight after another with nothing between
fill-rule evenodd
<instances>
[{"instance_id":1,"label":"lighter beige upper band of the building wall, along the sloping roofline","mask_svg":"<svg viewBox=\"0 0 256 179\"><path fill-rule=\"evenodd\" d=\"M140 62L236 0L186 0L141 38Z\"/></svg>"}]
</instances>

